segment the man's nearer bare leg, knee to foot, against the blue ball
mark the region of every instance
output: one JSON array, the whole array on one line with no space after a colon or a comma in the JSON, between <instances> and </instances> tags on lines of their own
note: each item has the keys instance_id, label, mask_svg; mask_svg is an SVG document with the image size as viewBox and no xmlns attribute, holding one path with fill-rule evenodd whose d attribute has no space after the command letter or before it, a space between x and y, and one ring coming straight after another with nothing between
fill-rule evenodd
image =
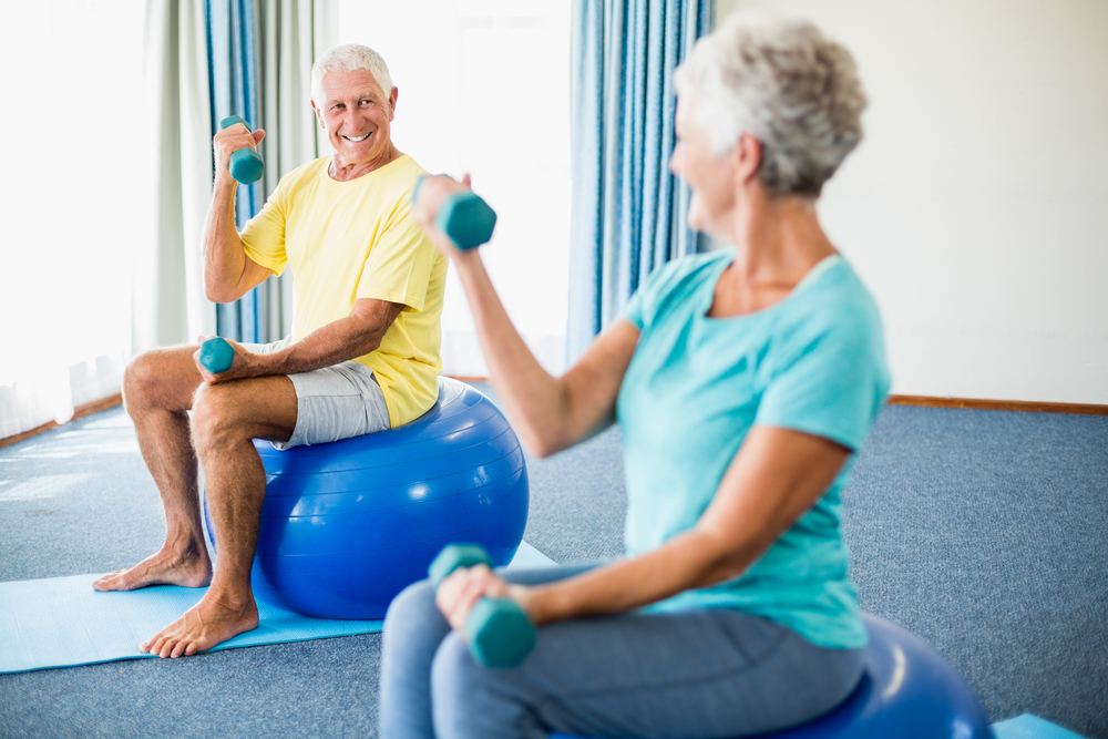
<instances>
[{"instance_id":1,"label":"man's nearer bare leg, knee to foot, against the blue ball","mask_svg":"<svg viewBox=\"0 0 1108 739\"><path fill-rule=\"evenodd\" d=\"M204 465L218 562L201 602L142 644L143 651L161 657L193 655L257 628L250 567L266 472L253 440L287 441L296 414L296 391L284 376L202 386L196 392L193 444Z\"/></svg>"}]
</instances>

